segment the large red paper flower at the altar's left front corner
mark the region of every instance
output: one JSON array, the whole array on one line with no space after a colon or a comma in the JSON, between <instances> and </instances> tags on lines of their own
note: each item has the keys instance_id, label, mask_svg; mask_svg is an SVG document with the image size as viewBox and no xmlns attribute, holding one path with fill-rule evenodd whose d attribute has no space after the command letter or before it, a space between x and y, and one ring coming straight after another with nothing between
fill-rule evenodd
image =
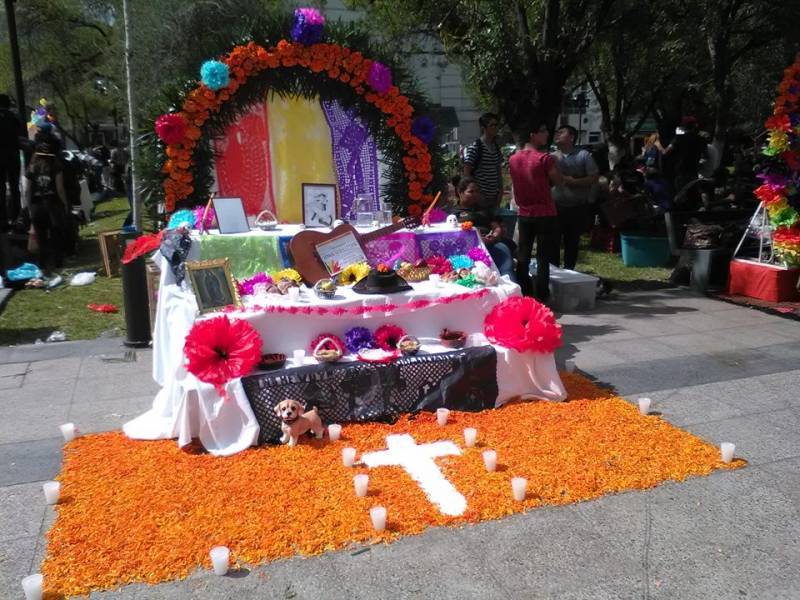
<instances>
[{"instance_id":1,"label":"large red paper flower at the altar's left front corner","mask_svg":"<svg viewBox=\"0 0 800 600\"><path fill-rule=\"evenodd\" d=\"M228 381L247 375L258 364L261 336L247 321L214 317L192 326L183 353L186 369L224 397Z\"/></svg>"}]
</instances>

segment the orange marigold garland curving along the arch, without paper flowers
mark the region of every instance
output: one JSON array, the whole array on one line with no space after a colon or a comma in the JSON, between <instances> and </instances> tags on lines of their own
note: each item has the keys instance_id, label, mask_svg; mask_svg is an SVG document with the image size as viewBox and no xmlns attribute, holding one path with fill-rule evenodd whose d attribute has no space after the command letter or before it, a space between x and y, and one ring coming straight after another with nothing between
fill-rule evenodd
<instances>
[{"instance_id":1,"label":"orange marigold garland curving along the arch, without paper flowers","mask_svg":"<svg viewBox=\"0 0 800 600\"><path fill-rule=\"evenodd\" d=\"M189 92L178 113L187 123L184 139L166 147L167 160L161 172L166 175L163 186L167 212L172 212L176 202L188 198L194 192L192 155L200 140L202 128L211 115L218 113L222 105L250 77L266 69L298 65L348 84L366 102L380 109L386 116L387 125L402 141L406 153L403 166L409 183L409 214L418 216L422 212L422 206L433 200L433 196L424 193L425 187L433 181L431 154L427 144L411 133L414 108L395 86L390 87L385 94L378 94L369 88L366 82L373 61L360 52L338 44L305 46L281 40L269 49L255 42L236 46L220 61L226 63L230 69L230 83L216 92L201 83Z\"/></svg>"}]
</instances>

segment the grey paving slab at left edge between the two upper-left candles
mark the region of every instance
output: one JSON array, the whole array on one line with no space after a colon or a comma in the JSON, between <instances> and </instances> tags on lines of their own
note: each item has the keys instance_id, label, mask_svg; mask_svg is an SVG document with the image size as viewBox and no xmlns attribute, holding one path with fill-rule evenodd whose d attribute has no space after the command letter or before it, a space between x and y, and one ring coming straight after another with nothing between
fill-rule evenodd
<instances>
[{"instance_id":1,"label":"grey paving slab at left edge between the two upper-left candles","mask_svg":"<svg viewBox=\"0 0 800 600\"><path fill-rule=\"evenodd\" d=\"M61 469L63 445L63 437L0 444L0 486L53 479Z\"/></svg>"}]
</instances>

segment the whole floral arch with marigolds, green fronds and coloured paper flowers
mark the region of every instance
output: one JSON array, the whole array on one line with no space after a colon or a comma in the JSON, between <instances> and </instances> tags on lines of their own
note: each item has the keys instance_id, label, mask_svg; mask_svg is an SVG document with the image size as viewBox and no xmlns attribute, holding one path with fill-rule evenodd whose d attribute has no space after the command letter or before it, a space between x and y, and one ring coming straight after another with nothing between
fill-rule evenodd
<instances>
[{"instance_id":1,"label":"whole floral arch with marigolds, green fronds and coloured paper flowers","mask_svg":"<svg viewBox=\"0 0 800 600\"><path fill-rule=\"evenodd\" d=\"M381 196L395 214L419 215L433 200L441 152L428 107L390 58L370 58L364 36L324 29L314 9L294 12L292 39L274 45L250 41L208 61L195 81L175 97L170 112L154 119L156 136L145 149L151 199L167 212L204 204L213 184L212 140L268 90L280 96L335 99L354 107L386 164ZM323 41L323 35L344 43ZM348 43L349 42L349 43ZM408 95L400 85L412 90ZM412 99L413 98L413 99Z\"/></svg>"}]
</instances>

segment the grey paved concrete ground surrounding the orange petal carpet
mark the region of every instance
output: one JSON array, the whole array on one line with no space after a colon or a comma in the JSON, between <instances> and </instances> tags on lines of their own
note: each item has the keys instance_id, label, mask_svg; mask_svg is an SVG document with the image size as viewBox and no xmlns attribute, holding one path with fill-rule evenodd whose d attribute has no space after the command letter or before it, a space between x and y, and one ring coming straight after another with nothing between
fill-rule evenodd
<instances>
[{"instance_id":1,"label":"grey paved concrete ground surrounding the orange petal carpet","mask_svg":"<svg viewBox=\"0 0 800 600\"><path fill-rule=\"evenodd\" d=\"M749 465L361 554L93 597L800 598L800 322L680 290L620 295L560 322L560 361L631 401L650 396L662 418L711 443L736 443ZM149 408L150 351L130 358L118 340L0 350L3 598L22 598L20 579L44 555L54 511L40 482L59 469L58 425L116 429Z\"/></svg>"}]
</instances>

